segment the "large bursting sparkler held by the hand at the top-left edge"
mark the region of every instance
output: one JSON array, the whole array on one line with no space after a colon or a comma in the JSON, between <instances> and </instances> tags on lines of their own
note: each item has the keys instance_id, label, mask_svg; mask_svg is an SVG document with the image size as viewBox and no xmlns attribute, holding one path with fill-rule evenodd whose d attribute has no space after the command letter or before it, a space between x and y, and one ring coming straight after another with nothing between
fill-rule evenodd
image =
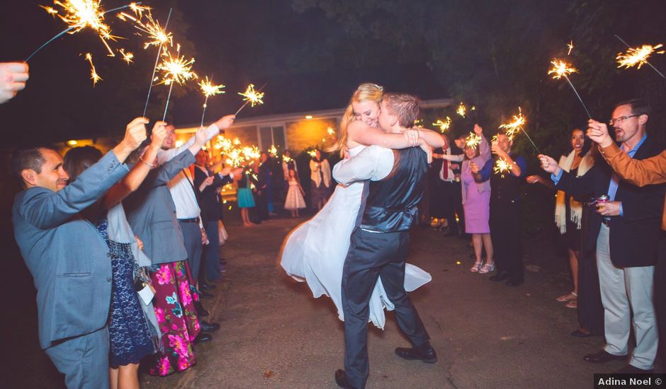
<instances>
[{"instance_id":1,"label":"large bursting sparkler held by the hand at the top-left edge","mask_svg":"<svg viewBox=\"0 0 666 389\"><path fill-rule=\"evenodd\" d=\"M109 47L107 41L115 40L116 37L111 35L111 28L106 23L104 23L104 16L110 12L120 11L123 8L130 8L130 6L132 6L131 4L128 4L126 6L121 6L118 8L113 8L108 11L102 10L99 0L97 1L96 0L62 0L62 1L54 0L53 4L55 6L59 6L60 8L62 8L62 10L60 11L62 11L63 14L61 14L60 11L58 11L57 9L50 6L40 6L40 7L44 8L46 12L49 13L50 15L57 16L62 21L64 21L64 23L67 23L68 27L60 31L60 33L57 33L50 40L47 40L43 45L38 47L38 49L35 50L32 54L30 54L24 62L30 61L30 58L34 57L35 54L37 54L40 50L46 47L50 42L53 42L62 35L66 33L75 34L83 30L84 28L91 28L92 30L94 30L97 33L99 39L106 47L106 50L108 50L109 52L108 55L110 57L115 56L113 50L111 50L111 47ZM132 3L132 4L134 4L134 6L138 6L138 4L141 3Z\"/></svg>"}]
</instances>

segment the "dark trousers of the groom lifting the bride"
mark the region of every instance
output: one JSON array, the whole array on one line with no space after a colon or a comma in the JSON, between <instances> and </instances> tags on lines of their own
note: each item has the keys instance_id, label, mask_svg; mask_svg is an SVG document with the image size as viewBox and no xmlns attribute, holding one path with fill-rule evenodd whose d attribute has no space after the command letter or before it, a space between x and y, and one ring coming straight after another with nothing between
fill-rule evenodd
<instances>
[{"instance_id":1,"label":"dark trousers of the groom lifting the bride","mask_svg":"<svg viewBox=\"0 0 666 389\"><path fill-rule=\"evenodd\" d=\"M405 291L405 260L410 250L410 233L372 233L355 228L342 270L344 311L344 368L347 381L363 388L368 379L368 301L381 276L386 297L395 306L400 330L414 347L430 337Z\"/></svg>"}]
</instances>

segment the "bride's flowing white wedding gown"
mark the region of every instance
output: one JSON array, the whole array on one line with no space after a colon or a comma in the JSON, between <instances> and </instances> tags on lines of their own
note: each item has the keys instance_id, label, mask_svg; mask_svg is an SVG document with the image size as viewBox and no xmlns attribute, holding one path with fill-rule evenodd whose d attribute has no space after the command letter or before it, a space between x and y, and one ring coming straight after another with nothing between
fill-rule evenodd
<instances>
[{"instance_id":1,"label":"bride's flowing white wedding gown","mask_svg":"<svg viewBox=\"0 0 666 389\"><path fill-rule=\"evenodd\" d=\"M350 149L356 156L365 146ZM307 281L315 298L329 296L342 312L342 266L349 250L351 231L361 207L363 182L337 185L324 207L309 221L300 224L287 236L282 250L281 265L297 281ZM432 279L429 273L414 265L405 265L405 290L413 291ZM393 310L386 297L381 277L370 298L370 320L384 328L384 308Z\"/></svg>"}]
</instances>

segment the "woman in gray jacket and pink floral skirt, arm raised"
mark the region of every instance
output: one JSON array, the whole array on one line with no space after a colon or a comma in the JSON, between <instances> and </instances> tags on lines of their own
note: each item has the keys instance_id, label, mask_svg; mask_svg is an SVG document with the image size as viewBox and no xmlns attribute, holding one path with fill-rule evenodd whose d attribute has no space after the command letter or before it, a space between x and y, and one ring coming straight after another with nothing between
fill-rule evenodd
<instances>
[{"instance_id":1,"label":"woman in gray jacket and pink floral skirt, arm raised","mask_svg":"<svg viewBox=\"0 0 666 389\"><path fill-rule=\"evenodd\" d=\"M168 139L168 127L166 131ZM187 149L159 167L138 158L137 164L149 165L152 170L123 202L132 231L142 241L152 263L149 277L156 289L153 306L162 332L161 352L149 367L149 373L155 376L166 376L193 366L196 360L192 342L211 339L201 332L195 306L198 300L195 279L187 263L188 252L176 219L174 200L166 186L196 161L194 155L205 141L206 132L201 129Z\"/></svg>"}]
</instances>

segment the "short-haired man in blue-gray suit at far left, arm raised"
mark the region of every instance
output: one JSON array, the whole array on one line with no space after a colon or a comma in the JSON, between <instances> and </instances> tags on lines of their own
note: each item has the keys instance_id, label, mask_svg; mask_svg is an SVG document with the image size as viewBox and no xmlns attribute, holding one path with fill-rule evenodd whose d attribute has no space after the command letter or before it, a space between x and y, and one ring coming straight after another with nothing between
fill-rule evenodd
<instances>
[{"instance_id":1,"label":"short-haired man in blue-gray suit at far left, arm raised","mask_svg":"<svg viewBox=\"0 0 666 389\"><path fill-rule=\"evenodd\" d=\"M14 199L14 237L37 288L40 346L68 388L108 388L110 253L79 211L128 173L125 159L146 139L147 122L132 120L123 141L71 185L55 150L20 149L11 156L12 173L25 189Z\"/></svg>"}]
</instances>

